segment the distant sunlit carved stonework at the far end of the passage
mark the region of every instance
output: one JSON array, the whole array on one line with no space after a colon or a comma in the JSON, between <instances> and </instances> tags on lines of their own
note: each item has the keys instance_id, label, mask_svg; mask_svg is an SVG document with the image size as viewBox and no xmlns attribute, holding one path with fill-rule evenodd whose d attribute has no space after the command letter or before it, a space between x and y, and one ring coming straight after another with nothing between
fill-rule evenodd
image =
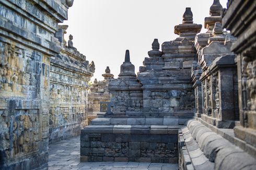
<instances>
[{"instance_id":1,"label":"distant sunlit carved stonework at the far end of the passage","mask_svg":"<svg viewBox=\"0 0 256 170\"><path fill-rule=\"evenodd\" d=\"M103 81L94 80L91 84L90 92L88 94L88 123L97 117L97 115L104 115L110 107L110 94L108 90L109 82L114 75L110 73L107 66L105 73L102 74Z\"/></svg>"}]
</instances>

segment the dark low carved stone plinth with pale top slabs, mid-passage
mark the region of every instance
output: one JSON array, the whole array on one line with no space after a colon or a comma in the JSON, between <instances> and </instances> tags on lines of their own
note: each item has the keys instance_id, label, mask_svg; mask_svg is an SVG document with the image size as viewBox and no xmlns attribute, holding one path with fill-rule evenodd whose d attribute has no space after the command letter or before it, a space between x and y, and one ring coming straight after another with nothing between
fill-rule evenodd
<instances>
[{"instance_id":1,"label":"dark low carved stone plinth with pale top slabs, mid-passage","mask_svg":"<svg viewBox=\"0 0 256 170\"><path fill-rule=\"evenodd\" d=\"M81 161L177 163L178 128L89 125L82 129Z\"/></svg>"}]
</instances>

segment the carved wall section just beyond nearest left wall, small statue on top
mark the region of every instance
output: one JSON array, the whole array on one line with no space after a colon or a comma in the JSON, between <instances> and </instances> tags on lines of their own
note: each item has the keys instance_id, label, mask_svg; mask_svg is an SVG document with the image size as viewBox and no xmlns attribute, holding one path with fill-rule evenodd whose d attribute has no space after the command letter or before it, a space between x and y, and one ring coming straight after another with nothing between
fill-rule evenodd
<instances>
[{"instance_id":1,"label":"carved wall section just beyond nearest left wall, small statue on top","mask_svg":"<svg viewBox=\"0 0 256 170\"><path fill-rule=\"evenodd\" d=\"M49 143L78 136L80 129L88 125L88 82L95 66L74 47L72 35L65 42L67 28L60 25L55 33L61 51L50 59Z\"/></svg>"}]
</instances>

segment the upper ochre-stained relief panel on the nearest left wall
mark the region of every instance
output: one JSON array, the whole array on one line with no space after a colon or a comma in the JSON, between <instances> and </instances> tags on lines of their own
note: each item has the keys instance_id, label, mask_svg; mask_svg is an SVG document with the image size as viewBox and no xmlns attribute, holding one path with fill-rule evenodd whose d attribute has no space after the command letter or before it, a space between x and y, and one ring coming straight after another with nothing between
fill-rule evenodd
<instances>
[{"instance_id":1,"label":"upper ochre-stained relief panel on the nearest left wall","mask_svg":"<svg viewBox=\"0 0 256 170\"><path fill-rule=\"evenodd\" d=\"M26 96L40 91L40 54L0 42L0 93Z\"/></svg>"}]
</instances>

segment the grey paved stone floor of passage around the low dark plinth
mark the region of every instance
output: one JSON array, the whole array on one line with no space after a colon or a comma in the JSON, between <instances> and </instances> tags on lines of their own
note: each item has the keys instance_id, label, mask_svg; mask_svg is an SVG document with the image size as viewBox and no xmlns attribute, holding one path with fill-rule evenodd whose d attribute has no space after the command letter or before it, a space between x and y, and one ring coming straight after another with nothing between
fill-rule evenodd
<instances>
[{"instance_id":1,"label":"grey paved stone floor of passage around the low dark plinth","mask_svg":"<svg viewBox=\"0 0 256 170\"><path fill-rule=\"evenodd\" d=\"M92 169L92 170L174 170L178 164L138 162L81 162L80 137L70 138L49 145L49 170Z\"/></svg>"}]
</instances>

